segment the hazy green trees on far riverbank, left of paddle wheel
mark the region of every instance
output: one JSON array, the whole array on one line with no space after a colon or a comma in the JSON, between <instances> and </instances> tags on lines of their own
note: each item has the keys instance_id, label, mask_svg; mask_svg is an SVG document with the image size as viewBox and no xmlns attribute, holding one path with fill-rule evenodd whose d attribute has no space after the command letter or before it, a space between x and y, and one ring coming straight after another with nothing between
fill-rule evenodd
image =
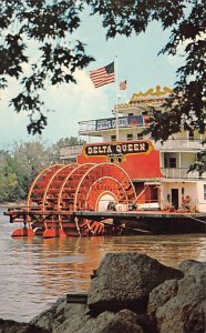
<instances>
[{"instance_id":1,"label":"hazy green trees on far riverbank, left of paddle wheel","mask_svg":"<svg viewBox=\"0 0 206 333\"><path fill-rule=\"evenodd\" d=\"M79 144L78 138L62 138L52 148L41 142L14 142L11 153L0 151L0 202L25 200L35 174L60 162L59 150L68 144Z\"/></svg>"}]
</instances>

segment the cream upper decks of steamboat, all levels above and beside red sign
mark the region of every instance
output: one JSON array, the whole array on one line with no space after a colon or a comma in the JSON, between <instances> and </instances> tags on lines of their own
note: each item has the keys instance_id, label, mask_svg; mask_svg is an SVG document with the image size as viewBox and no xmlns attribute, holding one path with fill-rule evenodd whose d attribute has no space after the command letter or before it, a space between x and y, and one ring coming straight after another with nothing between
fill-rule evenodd
<instances>
[{"instance_id":1,"label":"cream upper decks of steamboat, all levels above and beside red sign","mask_svg":"<svg viewBox=\"0 0 206 333\"><path fill-rule=\"evenodd\" d=\"M79 137L83 137L89 142L151 140L154 149L161 152L161 168L167 179L203 179L205 173L204 175L198 171L188 173L188 169L195 163L197 153L203 149L205 134L183 130L163 143L155 142L150 134L143 138L142 132L148 127L151 115L164 111L164 102L171 93L172 89L159 85L146 92L134 93L128 102L114 107L112 117L80 121ZM75 161L81 151L82 145L63 147L61 160Z\"/></svg>"}]
</instances>

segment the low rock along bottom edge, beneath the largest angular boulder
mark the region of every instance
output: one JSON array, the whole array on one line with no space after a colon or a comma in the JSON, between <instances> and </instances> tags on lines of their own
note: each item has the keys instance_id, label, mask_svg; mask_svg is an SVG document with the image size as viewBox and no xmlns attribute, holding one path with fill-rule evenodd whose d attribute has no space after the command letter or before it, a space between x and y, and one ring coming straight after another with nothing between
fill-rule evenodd
<instances>
[{"instance_id":1,"label":"low rock along bottom edge, beneath the largest angular boulder","mask_svg":"<svg viewBox=\"0 0 206 333\"><path fill-rule=\"evenodd\" d=\"M103 312L99 316L92 316L86 304L64 301L58 301L32 322L40 330L47 327L49 330L47 332L52 333L143 333L138 323L148 326L148 323L144 323L144 319L130 310L122 310L119 313Z\"/></svg>"}]
</instances>

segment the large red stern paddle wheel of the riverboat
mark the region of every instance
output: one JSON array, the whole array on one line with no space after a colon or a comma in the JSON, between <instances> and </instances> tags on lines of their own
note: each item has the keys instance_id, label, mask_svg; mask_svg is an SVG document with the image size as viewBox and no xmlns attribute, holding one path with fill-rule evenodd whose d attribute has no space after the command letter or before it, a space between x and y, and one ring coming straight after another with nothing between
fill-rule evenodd
<instances>
[{"instance_id":1,"label":"large red stern paddle wheel of the riverboat","mask_svg":"<svg viewBox=\"0 0 206 333\"><path fill-rule=\"evenodd\" d=\"M127 205L135 198L130 176L117 164L54 164L34 178L27 210L12 222L23 216L28 235L103 235L109 231L104 221L79 219L73 213L106 211L111 201ZM16 230L13 235L25 235L25 228Z\"/></svg>"}]
</instances>

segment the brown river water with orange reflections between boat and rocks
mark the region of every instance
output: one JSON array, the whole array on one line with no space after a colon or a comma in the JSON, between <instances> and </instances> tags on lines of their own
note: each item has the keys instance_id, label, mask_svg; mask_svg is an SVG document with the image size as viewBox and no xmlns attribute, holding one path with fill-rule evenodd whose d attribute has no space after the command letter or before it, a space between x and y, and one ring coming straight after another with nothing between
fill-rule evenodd
<instances>
[{"instance_id":1,"label":"brown river water with orange reflections between boat and rocks","mask_svg":"<svg viewBox=\"0 0 206 333\"><path fill-rule=\"evenodd\" d=\"M0 317L30 321L60 296L86 292L90 275L107 252L146 253L177 266L206 260L204 234L90 239L11 239L17 228L0 208Z\"/></svg>"}]
</instances>

